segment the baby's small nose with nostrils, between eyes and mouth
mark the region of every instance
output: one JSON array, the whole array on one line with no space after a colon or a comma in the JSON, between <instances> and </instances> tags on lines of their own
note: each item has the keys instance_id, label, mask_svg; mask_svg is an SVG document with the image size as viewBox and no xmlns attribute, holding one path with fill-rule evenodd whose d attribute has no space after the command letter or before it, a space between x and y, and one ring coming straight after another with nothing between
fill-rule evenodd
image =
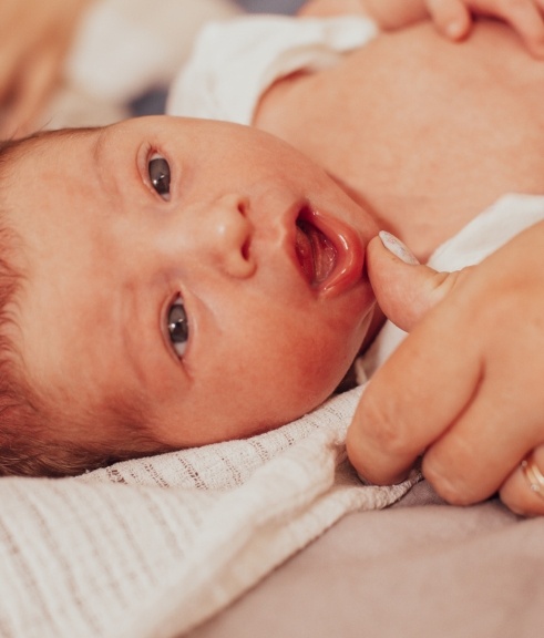
<instances>
[{"instance_id":1,"label":"baby's small nose with nostrils, between eyes and mouth","mask_svg":"<svg viewBox=\"0 0 544 638\"><path fill-rule=\"evenodd\" d=\"M244 197L224 195L212 204L204 222L207 248L219 268L237 278L250 277L256 268L252 254L254 227L247 218L247 208Z\"/></svg>"}]
</instances>

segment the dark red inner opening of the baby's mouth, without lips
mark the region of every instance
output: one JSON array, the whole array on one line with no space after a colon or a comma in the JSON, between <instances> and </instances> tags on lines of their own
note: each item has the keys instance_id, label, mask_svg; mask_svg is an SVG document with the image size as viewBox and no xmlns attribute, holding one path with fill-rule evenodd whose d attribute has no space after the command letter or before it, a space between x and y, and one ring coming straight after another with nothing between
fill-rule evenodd
<instances>
[{"instance_id":1,"label":"dark red inner opening of the baby's mouth, without lips","mask_svg":"<svg viewBox=\"0 0 544 638\"><path fill-rule=\"evenodd\" d=\"M337 249L306 216L297 219L295 249L310 286L319 287L335 269Z\"/></svg>"}]
</instances>

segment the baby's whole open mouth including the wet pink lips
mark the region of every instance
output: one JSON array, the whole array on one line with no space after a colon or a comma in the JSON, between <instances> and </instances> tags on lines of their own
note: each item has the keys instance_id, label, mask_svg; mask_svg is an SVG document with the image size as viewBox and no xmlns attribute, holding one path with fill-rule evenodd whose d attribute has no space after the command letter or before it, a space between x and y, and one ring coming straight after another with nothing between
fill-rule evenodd
<instances>
[{"instance_id":1,"label":"baby's whole open mouth including the wet pink lips","mask_svg":"<svg viewBox=\"0 0 544 638\"><path fill-rule=\"evenodd\" d=\"M302 206L296 218L295 255L310 287L338 295L361 280L365 251L358 233Z\"/></svg>"}]
</instances>

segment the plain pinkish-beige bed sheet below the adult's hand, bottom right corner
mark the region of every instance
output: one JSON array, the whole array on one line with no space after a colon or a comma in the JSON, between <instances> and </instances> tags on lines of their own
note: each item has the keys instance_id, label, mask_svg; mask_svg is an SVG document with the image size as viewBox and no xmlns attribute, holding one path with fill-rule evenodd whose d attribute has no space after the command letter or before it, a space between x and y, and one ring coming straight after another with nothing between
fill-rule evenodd
<instances>
[{"instance_id":1,"label":"plain pinkish-beige bed sheet below the adult's hand, bottom right corner","mask_svg":"<svg viewBox=\"0 0 544 638\"><path fill-rule=\"evenodd\" d=\"M427 483L352 513L189 638L534 638L544 521L444 505Z\"/></svg>"}]
</instances>

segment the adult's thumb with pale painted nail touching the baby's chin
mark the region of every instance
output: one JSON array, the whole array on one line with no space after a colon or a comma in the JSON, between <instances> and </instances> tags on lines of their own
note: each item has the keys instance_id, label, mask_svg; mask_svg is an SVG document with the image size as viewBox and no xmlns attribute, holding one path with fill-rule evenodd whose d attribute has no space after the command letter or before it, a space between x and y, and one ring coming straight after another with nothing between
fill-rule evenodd
<instances>
[{"instance_id":1,"label":"adult's thumb with pale painted nail touching the baby's chin","mask_svg":"<svg viewBox=\"0 0 544 638\"><path fill-rule=\"evenodd\" d=\"M368 246L367 267L378 305L407 332L450 292L463 272L438 272L419 264L400 239L383 230Z\"/></svg>"}]
</instances>

